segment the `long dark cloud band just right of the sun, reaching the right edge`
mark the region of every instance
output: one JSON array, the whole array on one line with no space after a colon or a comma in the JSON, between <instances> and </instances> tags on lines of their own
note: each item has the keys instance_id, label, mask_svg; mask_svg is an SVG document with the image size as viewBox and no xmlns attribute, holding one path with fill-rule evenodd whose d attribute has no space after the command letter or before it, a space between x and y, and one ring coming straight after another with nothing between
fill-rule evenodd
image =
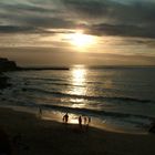
<instances>
[{"instance_id":1,"label":"long dark cloud band just right of the sun, reaching the right edge","mask_svg":"<svg viewBox=\"0 0 155 155\"><path fill-rule=\"evenodd\" d=\"M125 24L93 24L87 29L89 33L95 35L117 35L117 37L134 37L134 38L155 38L153 27L138 27Z\"/></svg>"}]
</instances>

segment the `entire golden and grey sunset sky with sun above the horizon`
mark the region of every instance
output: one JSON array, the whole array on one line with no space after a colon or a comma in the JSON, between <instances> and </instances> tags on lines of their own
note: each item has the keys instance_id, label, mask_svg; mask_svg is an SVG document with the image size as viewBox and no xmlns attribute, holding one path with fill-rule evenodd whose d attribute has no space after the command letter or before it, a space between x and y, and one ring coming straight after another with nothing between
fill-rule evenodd
<instances>
[{"instance_id":1,"label":"entire golden and grey sunset sky with sun above the horizon","mask_svg":"<svg viewBox=\"0 0 155 155\"><path fill-rule=\"evenodd\" d=\"M155 0L0 0L0 56L20 65L155 65Z\"/></svg>"}]
</instances>

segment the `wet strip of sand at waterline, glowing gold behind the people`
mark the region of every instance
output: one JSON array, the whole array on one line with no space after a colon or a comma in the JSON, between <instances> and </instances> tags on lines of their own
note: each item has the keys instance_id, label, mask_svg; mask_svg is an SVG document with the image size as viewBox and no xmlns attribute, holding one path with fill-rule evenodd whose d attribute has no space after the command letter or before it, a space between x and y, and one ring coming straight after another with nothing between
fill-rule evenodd
<instances>
[{"instance_id":1,"label":"wet strip of sand at waterline, glowing gold behind the people","mask_svg":"<svg viewBox=\"0 0 155 155\"><path fill-rule=\"evenodd\" d=\"M4 102L4 101L2 101ZM16 112L23 112L33 114L34 116L39 116L39 107L29 107L29 106L12 106L12 105L0 105L0 108L11 108ZM40 117L43 121L54 121L58 123L63 123L62 117L65 114L65 112L56 111L56 110L48 110L42 108L42 116ZM81 114L70 113L69 112L69 124L78 125L78 118ZM81 115L82 116L82 125L84 126L84 116L89 117L90 115ZM107 132L115 132L115 133L126 133L126 134L135 134L135 135L142 135L142 134L148 134L149 127L147 128L135 128L133 126L117 126L116 124L107 123L106 118L103 120L101 117L95 117L91 115L91 127L95 127L99 130L107 131ZM130 127L130 128L128 128Z\"/></svg>"}]
</instances>

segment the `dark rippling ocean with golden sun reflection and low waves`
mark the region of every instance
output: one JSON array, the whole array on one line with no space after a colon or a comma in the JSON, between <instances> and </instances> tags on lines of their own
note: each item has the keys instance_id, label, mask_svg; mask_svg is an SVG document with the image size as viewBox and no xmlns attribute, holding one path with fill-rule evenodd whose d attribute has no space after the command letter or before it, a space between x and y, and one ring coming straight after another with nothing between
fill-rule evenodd
<instances>
[{"instance_id":1,"label":"dark rippling ocean with golden sun reflection and low waves","mask_svg":"<svg viewBox=\"0 0 155 155\"><path fill-rule=\"evenodd\" d=\"M12 84L0 95L6 106L92 116L131 131L145 131L155 120L155 68L73 65L6 74Z\"/></svg>"}]
</instances>

